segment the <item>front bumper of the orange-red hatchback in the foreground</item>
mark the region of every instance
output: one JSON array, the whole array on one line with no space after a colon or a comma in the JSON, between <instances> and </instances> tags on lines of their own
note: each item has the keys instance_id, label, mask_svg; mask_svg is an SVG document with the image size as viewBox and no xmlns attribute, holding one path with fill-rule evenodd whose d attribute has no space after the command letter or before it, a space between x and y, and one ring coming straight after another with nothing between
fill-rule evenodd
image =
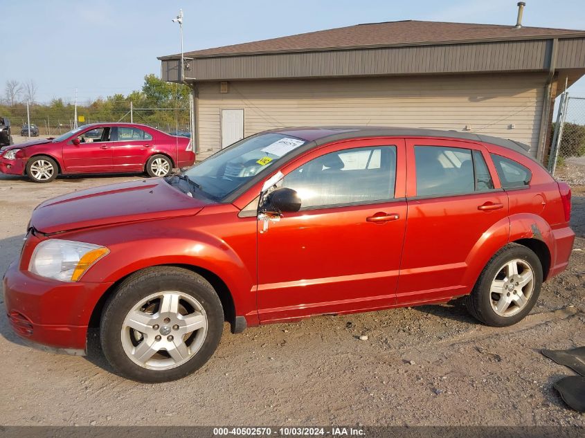
<instances>
[{"instance_id":1,"label":"front bumper of the orange-red hatchback in the foreground","mask_svg":"<svg viewBox=\"0 0 585 438\"><path fill-rule=\"evenodd\" d=\"M30 342L65 351L83 351L91 313L111 283L58 282L17 262L3 278L4 305L15 333Z\"/></svg>"}]
</instances>

